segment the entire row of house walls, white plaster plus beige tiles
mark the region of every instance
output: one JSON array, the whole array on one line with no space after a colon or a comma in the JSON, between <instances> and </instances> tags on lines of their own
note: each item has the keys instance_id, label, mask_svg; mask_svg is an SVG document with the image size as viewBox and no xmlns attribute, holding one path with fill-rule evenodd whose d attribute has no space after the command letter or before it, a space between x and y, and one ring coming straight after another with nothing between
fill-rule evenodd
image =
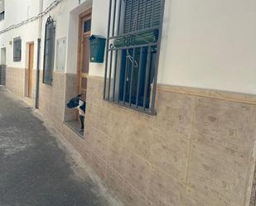
<instances>
[{"instance_id":1,"label":"entire row of house walls, white plaster plus beige tiles","mask_svg":"<svg viewBox=\"0 0 256 206\"><path fill-rule=\"evenodd\" d=\"M7 1L1 30L36 13L38 2L26 0L12 10L16 2ZM51 2L44 1L43 8ZM41 35L38 21L0 34L0 46L7 48L7 89L26 94L27 43L35 42L35 68L41 36L39 111L127 206L248 206L255 165L256 3L166 0L157 115L104 102L104 64L90 63L85 138L80 139L63 122L74 118L65 103L77 92L79 14L91 5L92 34L106 36L107 0L80 5L63 0L42 18ZM13 17L8 9L17 19L8 18ZM67 40L65 71L55 69L52 85L42 84L49 15L56 21L56 40ZM17 36L22 61L14 63L9 41Z\"/></svg>"}]
</instances>

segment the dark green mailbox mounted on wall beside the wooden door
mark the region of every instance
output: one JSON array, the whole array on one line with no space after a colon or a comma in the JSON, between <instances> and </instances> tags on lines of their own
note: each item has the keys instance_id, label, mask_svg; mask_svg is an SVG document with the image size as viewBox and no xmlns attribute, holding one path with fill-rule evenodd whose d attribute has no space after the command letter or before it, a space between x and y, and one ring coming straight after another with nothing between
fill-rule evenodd
<instances>
[{"instance_id":1,"label":"dark green mailbox mounted on wall beside the wooden door","mask_svg":"<svg viewBox=\"0 0 256 206\"><path fill-rule=\"evenodd\" d=\"M92 35L89 37L90 44L90 62L103 63L106 38L104 36Z\"/></svg>"}]
</instances>

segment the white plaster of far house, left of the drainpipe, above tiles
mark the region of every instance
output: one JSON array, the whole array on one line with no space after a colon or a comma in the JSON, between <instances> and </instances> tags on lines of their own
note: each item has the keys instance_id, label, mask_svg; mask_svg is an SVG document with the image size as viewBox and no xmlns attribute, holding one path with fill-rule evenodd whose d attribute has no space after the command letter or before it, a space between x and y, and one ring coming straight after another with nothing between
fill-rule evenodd
<instances>
[{"instance_id":1,"label":"white plaster of far house, left of the drainpipe, above tiles","mask_svg":"<svg viewBox=\"0 0 256 206\"><path fill-rule=\"evenodd\" d=\"M0 22L0 30L16 25L28 18L35 17L39 12L39 0L7 0L5 1L5 19ZM38 22L31 22L0 35L0 48L6 47L7 66L25 68L27 65L27 43L34 42L37 50ZM22 60L13 62L13 39L20 36L22 39ZM9 44L9 42L12 42ZM34 55L34 68L36 68L36 52Z\"/></svg>"}]
</instances>

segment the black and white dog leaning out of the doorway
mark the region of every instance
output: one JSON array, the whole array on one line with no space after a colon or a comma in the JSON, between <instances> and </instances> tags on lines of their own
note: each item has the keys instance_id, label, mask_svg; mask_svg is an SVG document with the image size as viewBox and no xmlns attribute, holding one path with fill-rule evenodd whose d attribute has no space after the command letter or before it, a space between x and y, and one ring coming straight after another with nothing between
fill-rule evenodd
<instances>
[{"instance_id":1,"label":"black and white dog leaning out of the doorway","mask_svg":"<svg viewBox=\"0 0 256 206\"><path fill-rule=\"evenodd\" d=\"M79 112L80 116L80 132L83 132L85 129L85 108L86 108L86 102L81 99L82 94L77 95L75 98L71 98L70 102L66 104L68 108L76 108Z\"/></svg>"}]
</instances>

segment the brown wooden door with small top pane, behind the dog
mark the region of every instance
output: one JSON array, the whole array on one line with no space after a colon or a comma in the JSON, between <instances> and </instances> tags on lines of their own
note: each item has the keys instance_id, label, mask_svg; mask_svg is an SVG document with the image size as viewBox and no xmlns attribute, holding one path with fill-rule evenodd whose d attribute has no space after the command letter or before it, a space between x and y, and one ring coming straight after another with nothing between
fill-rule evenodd
<instances>
[{"instance_id":1,"label":"brown wooden door with small top pane, behind the dog","mask_svg":"<svg viewBox=\"0 0 256 206\"><path fill-rule=\"evenodd\" d=\"M80 14L79 32L79 60L78 60L78 92L82 94L82 99L86 101L87 78L89 75L89 36L91 31L91 12L90 8Z\"/></svg>"}]
</instances>

